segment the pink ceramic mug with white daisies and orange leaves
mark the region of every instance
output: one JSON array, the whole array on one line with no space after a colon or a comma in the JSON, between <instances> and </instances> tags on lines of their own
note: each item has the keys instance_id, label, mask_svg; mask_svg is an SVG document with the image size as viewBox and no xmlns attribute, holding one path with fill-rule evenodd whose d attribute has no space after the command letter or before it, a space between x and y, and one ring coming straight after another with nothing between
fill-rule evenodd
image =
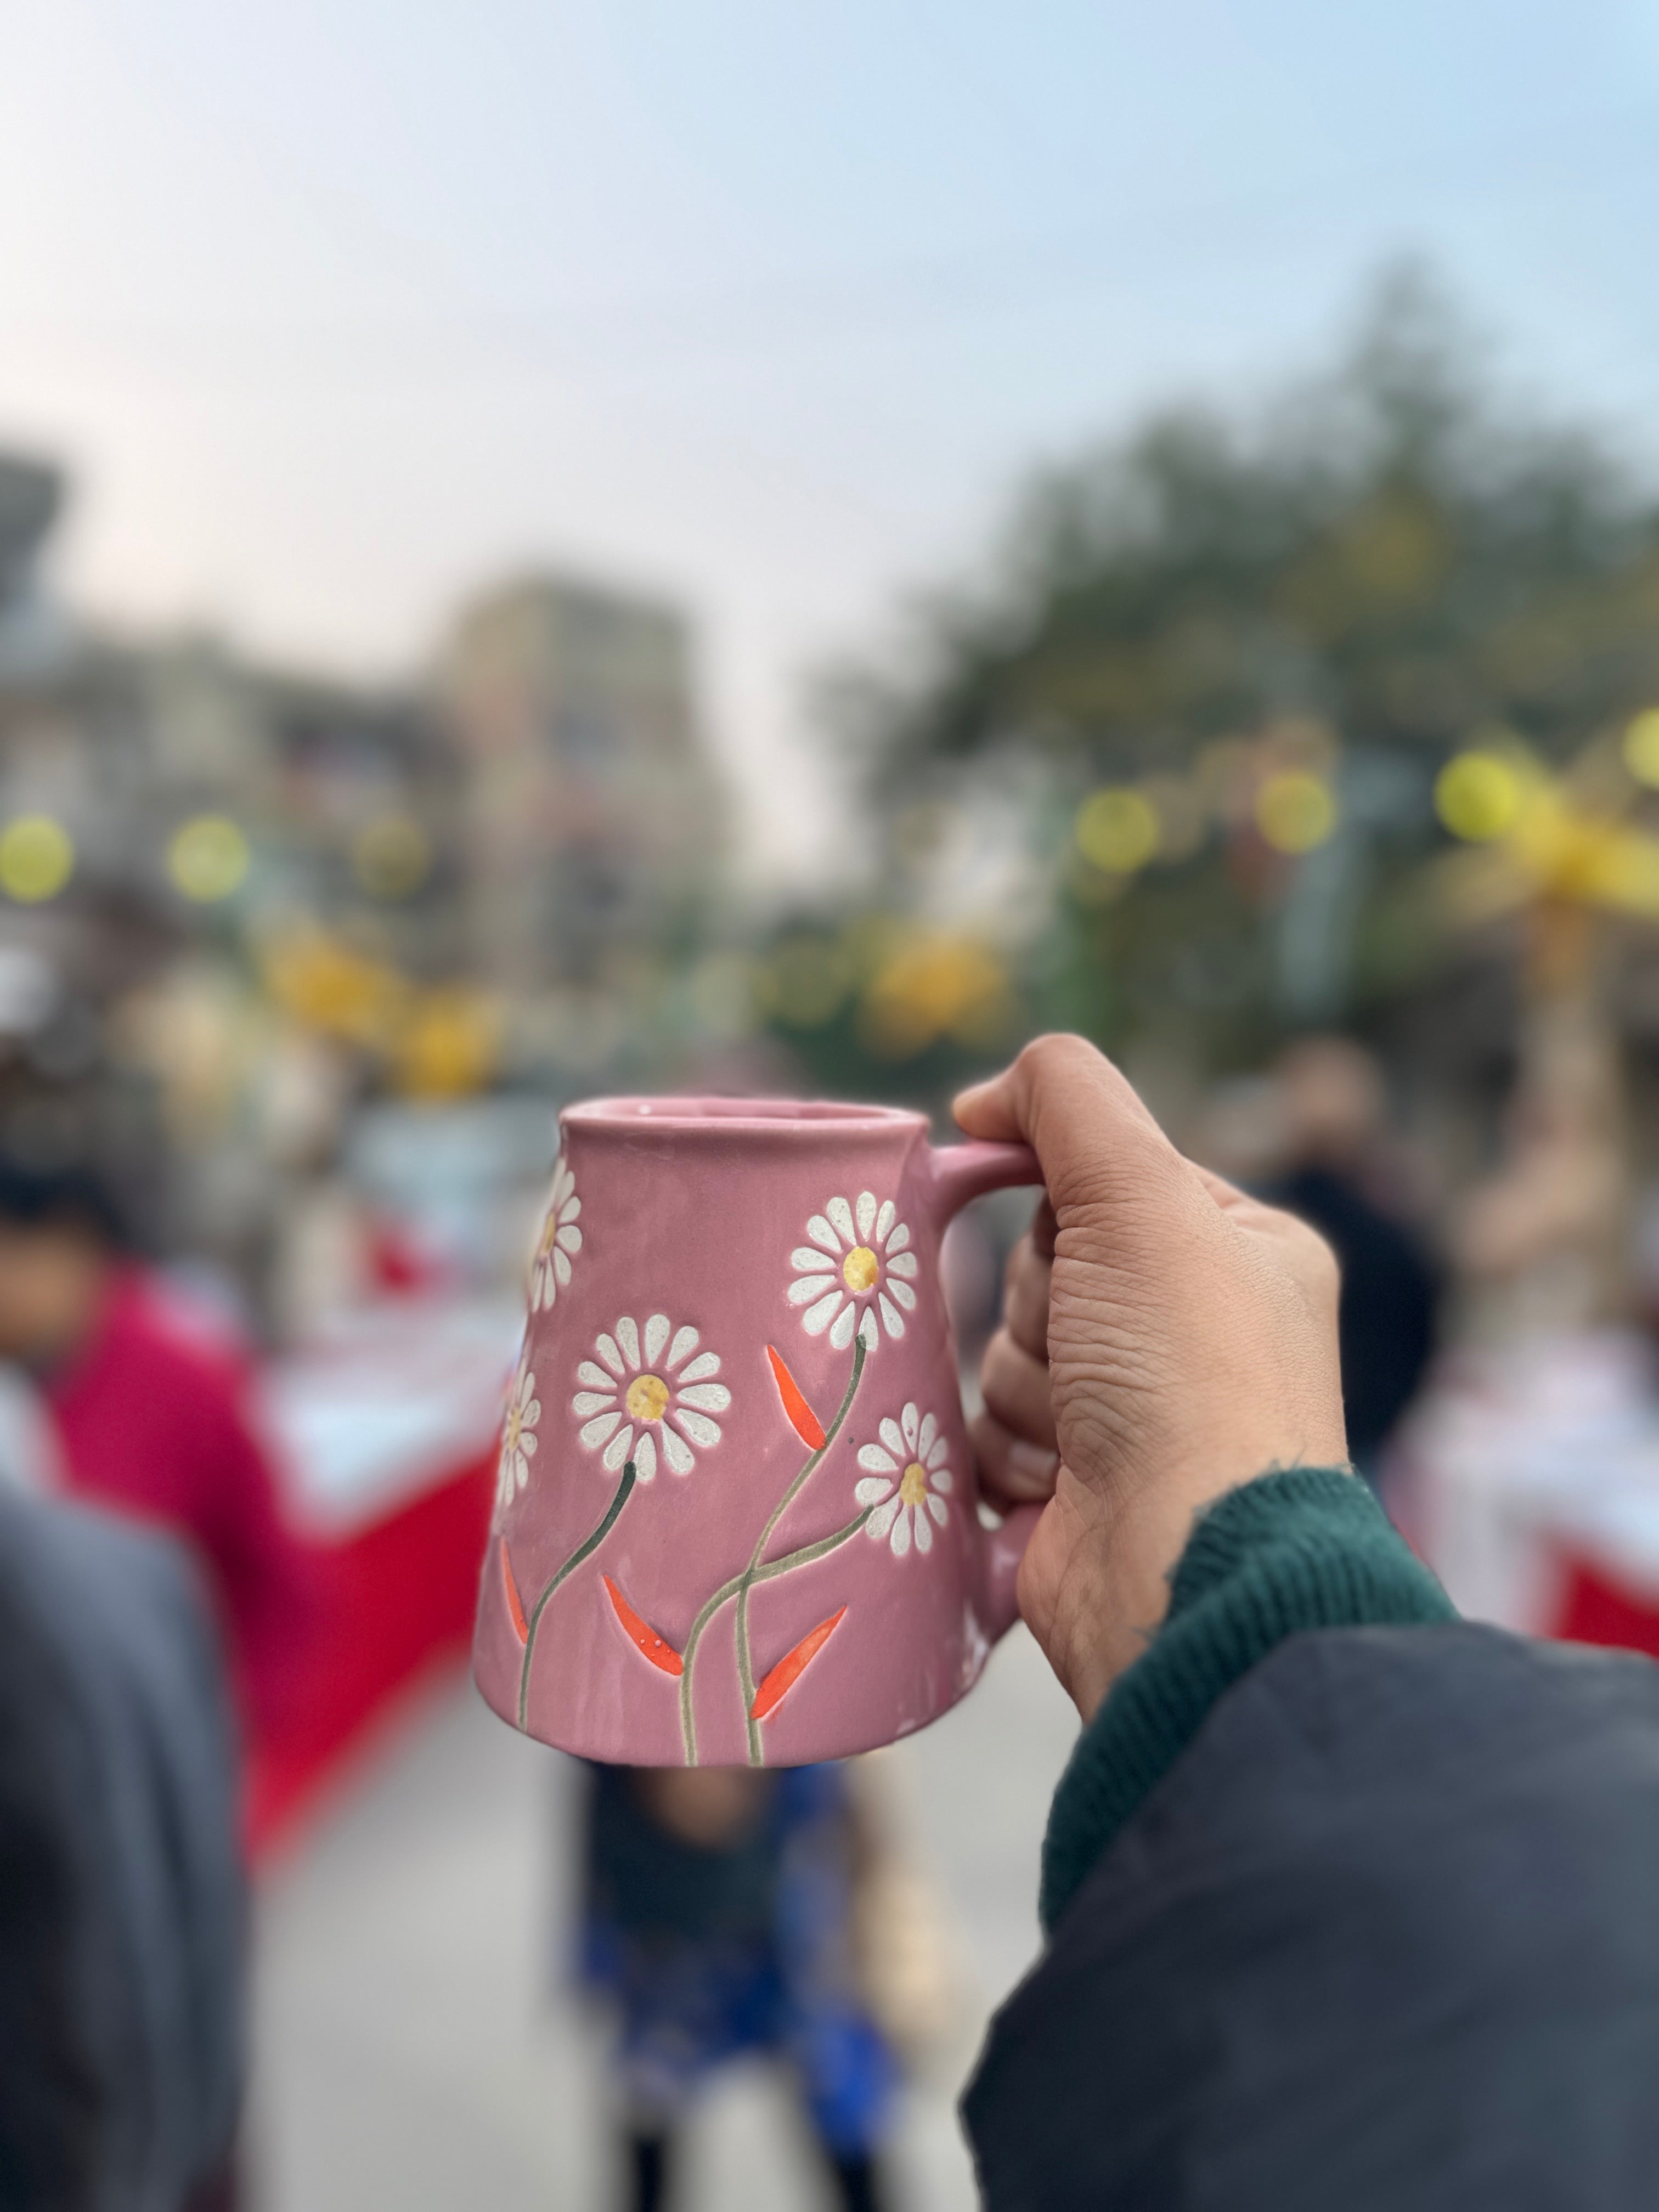
<instances>
[{"instance_id":1,"label":"pink ceramic mug with white daisies and orange leaves","mask_svg":"<svg viewBox=\"0 0 1659 2212\"><path fill-rule=\"evenodd\" d=\"M940 1237L1035 1157L785 1099L595 1099L560 1128L478 1688L628 1765L927 1725L1013 1624L1035 1520L980 1524Z\"/></svg>"}]
</instances>

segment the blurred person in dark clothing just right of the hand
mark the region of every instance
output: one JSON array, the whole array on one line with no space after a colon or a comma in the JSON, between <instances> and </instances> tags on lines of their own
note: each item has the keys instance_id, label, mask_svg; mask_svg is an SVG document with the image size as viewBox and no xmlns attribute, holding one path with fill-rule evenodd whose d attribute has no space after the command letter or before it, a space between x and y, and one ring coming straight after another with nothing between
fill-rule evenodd
<instances>
[{"instance_id":1,"label":"blurred person in dark clothing just right of the hand","mask_svg":"<svg viewBox=\"0 0 1659 2212\"><path fill-rule=\"evenodd\" d=\"M1336 1252L1347 1449L1374 1482L1429 1369L1440 1283L1383 1175L1387 1095L1374 1055L1349 1037L1305 1037L1274 1077L1285 1164L1261 1194Z\"/></svg>"}]
</instances>

